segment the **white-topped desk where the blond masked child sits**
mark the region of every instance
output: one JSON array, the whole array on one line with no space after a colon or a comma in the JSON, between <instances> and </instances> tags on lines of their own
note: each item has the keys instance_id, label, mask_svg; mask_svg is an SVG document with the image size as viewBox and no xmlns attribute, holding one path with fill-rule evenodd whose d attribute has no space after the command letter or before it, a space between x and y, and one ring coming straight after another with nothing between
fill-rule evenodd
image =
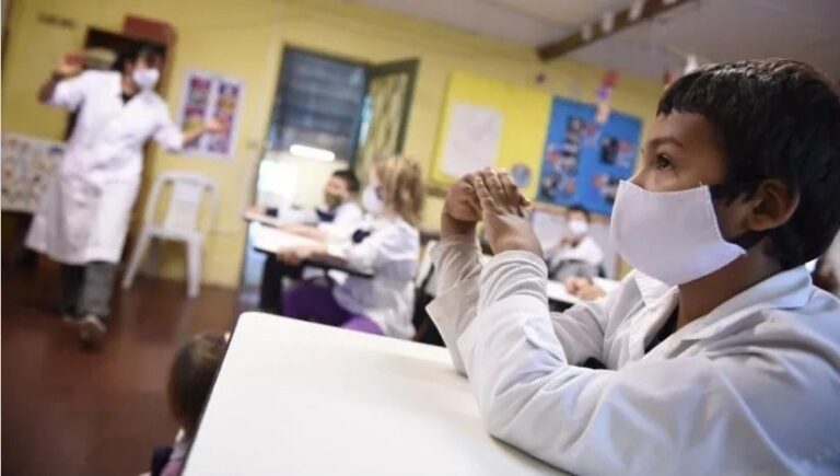
<instances>
[{"instance_id":1,"label":"white-topped desk where the blond masked child sits","mask_svg":"<svg viewBox=\"0 0 840 476\"><path fill-rule=\"evenodd\" d=\"M259 289L259 309L262 311L280 313L282 312L282 279L283 276L300 277L302 269L316 268L323 269L326 274L329 270L338 270L358 278L371 279L373 271L369 269L358 269L348 266L339 257L319 256L304 260L298 266L280 263L276 254L279 249L292 249L301 246L317 244L318 242L305 236L288 233L276 228L257 224L252 232L253 246L255 249L266 254L266 263L262 266L262 279Z\"/></svg>"}]
</instances>

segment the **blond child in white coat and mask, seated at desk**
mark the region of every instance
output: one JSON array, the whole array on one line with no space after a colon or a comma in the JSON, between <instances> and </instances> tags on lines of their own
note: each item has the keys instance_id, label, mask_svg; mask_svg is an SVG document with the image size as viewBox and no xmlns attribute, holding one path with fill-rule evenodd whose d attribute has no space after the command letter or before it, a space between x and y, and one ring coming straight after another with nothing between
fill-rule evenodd
<instances>
[{"instance_id":1,"label":"blond child in white coat and mask, seated at desk","mask_svg":"<svg viewBox=\"0 0 840 476\"><path fill-rule=\"evenodd\" d=\"M420 249L416 227L422 204L423 182L417 162L405 158L376 162L362 194L371 220L353 233L350 242L278 253L281 260L292 265L317 255L338 256L351 267L372 270L373 278L348 276L331 289L304 282L284 293L283 313L371 334L411 338L413 277Z\"/></svg>"}]
</instances>

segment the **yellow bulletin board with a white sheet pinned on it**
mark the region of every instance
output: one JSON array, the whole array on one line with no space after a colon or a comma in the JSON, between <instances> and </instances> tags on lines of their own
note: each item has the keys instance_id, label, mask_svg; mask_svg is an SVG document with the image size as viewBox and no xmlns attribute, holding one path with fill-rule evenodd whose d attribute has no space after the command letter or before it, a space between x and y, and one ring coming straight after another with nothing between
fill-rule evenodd
<instances>
[{"instance_id":1,"label":"yellow bulletin board with a white sheet pinned on it","mask_svg":"<svg viewBox=\"0 0 840 476\"><path fill-rule=\"evenodd\" d=\"M450 77L431 182L452 185L485 166L511 171L528 196L537 193L551 95L465 72Z\"/></svg>"}]
</instances>

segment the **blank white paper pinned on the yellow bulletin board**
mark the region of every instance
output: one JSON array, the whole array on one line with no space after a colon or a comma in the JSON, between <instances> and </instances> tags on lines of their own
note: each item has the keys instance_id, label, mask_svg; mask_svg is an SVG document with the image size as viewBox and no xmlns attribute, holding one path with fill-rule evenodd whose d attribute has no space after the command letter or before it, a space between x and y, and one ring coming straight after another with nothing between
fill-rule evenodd
<instances>
[{"instance_id":1,"label":"blank white paper pinned on the yellow bulletin board","mask_svg":"<svg viewBox=\"0 0 840 476\"><path fill-rule=\"evenodd\" d=\"M453 103L443 144L443 172L459 177L492 166L499 154L501 137L502 114L498 109Z\"/></svg>"}]
</instances>

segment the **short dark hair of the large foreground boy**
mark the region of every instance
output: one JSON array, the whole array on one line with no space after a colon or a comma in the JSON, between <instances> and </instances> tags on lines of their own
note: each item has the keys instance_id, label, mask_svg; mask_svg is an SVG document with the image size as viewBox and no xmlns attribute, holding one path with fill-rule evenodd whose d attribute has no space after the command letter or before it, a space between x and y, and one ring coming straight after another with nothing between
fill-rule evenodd
<instances>
[{"instance_id":1,"label":"short dark hair of the large foreground boy","mask_svg":"<svg viewBox=\"0 0 840 476\"><path fill-rule=\"evenodd\" d=\"M840 90L817 69L788 59L709 65L674 82L656 114L701 114L726 161L725 197L750 195L763 179L800 198L771 230L768 252L784 269L817 258L840 229ZM737 185L744 185L738 188Z\"/></svg>"}]
</instances>

